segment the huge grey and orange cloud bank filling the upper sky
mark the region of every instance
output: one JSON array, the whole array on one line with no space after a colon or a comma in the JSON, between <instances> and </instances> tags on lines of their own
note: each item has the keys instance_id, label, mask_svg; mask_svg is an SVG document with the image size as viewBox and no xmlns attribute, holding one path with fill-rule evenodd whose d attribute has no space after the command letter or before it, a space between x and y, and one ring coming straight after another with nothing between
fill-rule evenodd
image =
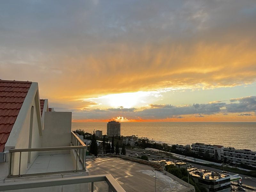
<instances>
[{"instance_id":1,"label":"huge grey and orange cloud bank filling the upper sky","mask_svg":"<svg viewBox=\"0 0 256 192\"><path fill-rule=\"evenodd\" d=\"M61 5L1 2L1 78L49 99L255 82L254 1Z\"/></svg>"}]
</instances>

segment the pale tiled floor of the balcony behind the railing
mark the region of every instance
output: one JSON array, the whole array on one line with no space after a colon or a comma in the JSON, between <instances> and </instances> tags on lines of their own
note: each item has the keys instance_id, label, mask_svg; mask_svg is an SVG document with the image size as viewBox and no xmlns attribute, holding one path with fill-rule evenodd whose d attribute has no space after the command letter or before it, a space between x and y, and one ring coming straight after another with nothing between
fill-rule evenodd
<instances>
[{"instance_id":1,"label":"pale tiled floor of the balcony behind the railing","mask_svg":"<svg viewBox=\"0 0 256 192\"><path fill-rule=\"evenodd\" d=\"M26 174L74 170L70 154L39 155Z\"/></svg>"}]
</instances>

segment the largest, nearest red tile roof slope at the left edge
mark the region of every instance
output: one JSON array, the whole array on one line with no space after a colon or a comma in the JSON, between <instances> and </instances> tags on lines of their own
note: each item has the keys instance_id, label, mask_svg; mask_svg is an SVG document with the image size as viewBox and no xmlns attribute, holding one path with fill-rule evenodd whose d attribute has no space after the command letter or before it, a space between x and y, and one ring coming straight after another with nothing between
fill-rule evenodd
<instances>
[{"instance_id":1,"label":"largest, nearest red tile roof slope at the left edge","mask_svg":"<svg viewBox=\"0 0 256 192\"><path fill-rule=\"evenodd\" d=\"M12 131L32 82L0 80L0 152Z\"/></svg>"}]
</instances>

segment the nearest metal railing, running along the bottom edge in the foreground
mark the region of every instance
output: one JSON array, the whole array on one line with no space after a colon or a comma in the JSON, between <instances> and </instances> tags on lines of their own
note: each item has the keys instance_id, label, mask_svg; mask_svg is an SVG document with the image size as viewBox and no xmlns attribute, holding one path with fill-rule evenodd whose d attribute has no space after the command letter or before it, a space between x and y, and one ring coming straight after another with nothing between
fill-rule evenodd
<instances>
[{"instance_id":1,"label":"nearest metal railing, running along the bottom edge in the foreground","mask_svg":"<svg viewBox=\"0 0 256 192\"><path fill-rule=\"evenodd\" d=\"M125 192L111 174L4 183L0 184L0 191L92 183L91 192L93 192L94 182L99 181L106 181L108 184L108 192Z\"/></svg>"}]
</instances>

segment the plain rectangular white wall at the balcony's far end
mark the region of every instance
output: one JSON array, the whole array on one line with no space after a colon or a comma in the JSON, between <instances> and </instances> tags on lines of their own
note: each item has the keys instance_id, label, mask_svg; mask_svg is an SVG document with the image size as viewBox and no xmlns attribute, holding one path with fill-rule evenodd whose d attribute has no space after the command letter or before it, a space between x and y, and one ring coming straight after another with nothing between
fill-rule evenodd
<instances>
[{"instance_id":1,"label":"plain rectangular white wall at the balcony's far end","mask_svg":"<svg viewBox=\"0 0 256 192\"><path fill-rule=\"evenodd\" d=\"M42 147L67 147L71 142L72 112L45 112Z\"/></svg>"}]
</instances>

